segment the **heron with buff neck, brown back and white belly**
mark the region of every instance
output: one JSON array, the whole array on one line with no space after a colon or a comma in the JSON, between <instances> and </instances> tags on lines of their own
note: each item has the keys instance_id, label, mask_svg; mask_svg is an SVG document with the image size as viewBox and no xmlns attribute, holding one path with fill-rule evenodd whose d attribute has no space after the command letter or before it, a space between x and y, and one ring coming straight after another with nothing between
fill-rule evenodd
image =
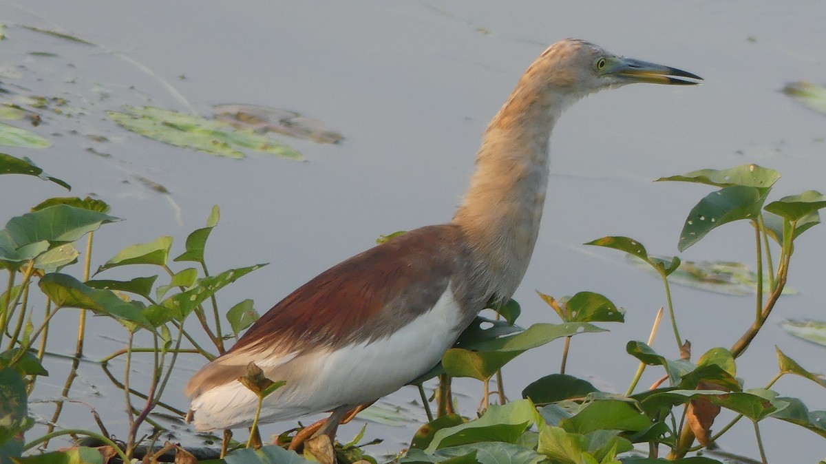
<instances>
[{"instance_id":1,"label":"heron with buff neck, brown back and white belly","mask_svg":"<svg viewBox=\"0 0 826 464\"><path fill-rule=\"evenodd\" d=\"M257 320L186 388L198 430L249 427L258 397L238 381L249 362L286 381L259 424L352 410L439 363L490 301L507 301L528 268L548 185L548 144L563 111L629 83L691 85L681 69L561 40L539 55L487 126L453 220L411 230L320 273Z\"/></svg>"}]
</instances>

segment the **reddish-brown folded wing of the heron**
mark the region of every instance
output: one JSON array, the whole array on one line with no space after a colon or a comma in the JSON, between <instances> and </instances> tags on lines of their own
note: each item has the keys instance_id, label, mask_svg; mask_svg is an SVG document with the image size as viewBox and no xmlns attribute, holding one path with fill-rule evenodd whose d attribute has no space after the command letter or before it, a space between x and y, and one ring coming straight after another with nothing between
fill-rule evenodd
<instances>
[{"instance_id":1,"label":"reddish-brown folded wing of the heron","mask_svg":"<svg viewBox=\"0 0 826 464\"><path fill-rule=\"evenodd\" d=\"M280 342L300 353L386 336L442 296L460 268L460 237L454 225L431 225L359 253L278 302L230 352Z\"/></svg>"}]
</instances>

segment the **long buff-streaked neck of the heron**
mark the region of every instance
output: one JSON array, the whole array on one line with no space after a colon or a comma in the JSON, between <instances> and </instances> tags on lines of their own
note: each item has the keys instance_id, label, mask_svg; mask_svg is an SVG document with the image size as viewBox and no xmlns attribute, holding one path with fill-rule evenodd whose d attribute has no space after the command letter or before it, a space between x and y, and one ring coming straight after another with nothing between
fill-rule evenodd
<instances>
[{"instance_id":1,"label":"long buff-streaked neck of the heron","mask_svg":"<svg viewBox=\"0 0 826 464\"><path fill-rule=\"evenodd\" d=\"M453 216L466 234L478 290L504 300L519 286L534 251L548 186L548 139L572 103L543 85L533 68L488 125L476 172Z\"/></svg>"}]
</instances>

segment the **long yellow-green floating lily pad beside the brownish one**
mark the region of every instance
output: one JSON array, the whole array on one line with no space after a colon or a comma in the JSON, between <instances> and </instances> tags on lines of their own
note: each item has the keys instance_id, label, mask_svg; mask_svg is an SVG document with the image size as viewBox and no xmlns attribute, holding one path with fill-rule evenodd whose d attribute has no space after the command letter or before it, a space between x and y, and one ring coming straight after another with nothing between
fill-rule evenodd
<instances>
[{"instance_id":1,"label":"long yellow-green floating lily pad beside the brownish one","mask_svg":"<svg viewBox=\"0 0 826 464\"><path fill-rule=\"evenodd\" d=\"M178 147L229 158L244 158L241 149L303 159L295 149L253 130L235 129L221 121L155 107L123 107L107 111L112 121L135 134Z\"/></svg>"}]
</instances>

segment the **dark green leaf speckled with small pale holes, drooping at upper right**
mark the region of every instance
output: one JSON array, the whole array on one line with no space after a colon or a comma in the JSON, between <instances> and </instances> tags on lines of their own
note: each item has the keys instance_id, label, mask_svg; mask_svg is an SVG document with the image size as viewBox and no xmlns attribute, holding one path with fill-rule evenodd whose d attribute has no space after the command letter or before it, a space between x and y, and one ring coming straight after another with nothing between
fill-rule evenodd
<instances>
[{"instance_id":1,"label":"dark green leaf speckled with small pale holes, drooping at upper right","mask_svg":"<svg viewBox=\"0 0 826 464\"><path fill-rule=\"evenodd\" d=\"M711 192L688 214L677 249L684 251L720 225L734 220L756 220L768 192L768 188L741 186Z\"/></svg>"}]
</instances>

